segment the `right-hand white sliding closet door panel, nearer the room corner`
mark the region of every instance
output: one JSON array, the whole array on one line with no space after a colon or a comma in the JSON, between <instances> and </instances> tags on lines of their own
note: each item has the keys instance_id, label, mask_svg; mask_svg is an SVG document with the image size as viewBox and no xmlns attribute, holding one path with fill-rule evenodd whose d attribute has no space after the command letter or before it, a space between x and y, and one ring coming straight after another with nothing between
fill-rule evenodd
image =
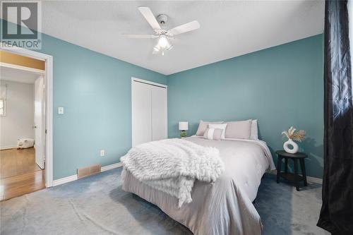
<instances>
[{"instance_id":1,"label":"right-hand white sliding closet door panel, nearer the room corner","mask_svg":"<svg viewBox=\"0 0 353 235\"><path fill-rule=\"evenodd\" d=\"M167 138L167 88L151 85L152 140Z\"/></svg>"}]
</instances>

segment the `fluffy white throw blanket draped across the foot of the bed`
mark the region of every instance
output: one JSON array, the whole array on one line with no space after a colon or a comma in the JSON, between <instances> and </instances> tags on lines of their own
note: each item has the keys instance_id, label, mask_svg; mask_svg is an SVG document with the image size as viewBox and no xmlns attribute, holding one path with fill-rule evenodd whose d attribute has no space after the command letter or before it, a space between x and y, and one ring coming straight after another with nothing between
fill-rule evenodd
<instances>
[{"instance_id":1,"label":"fluffy white throw blanket draped across the foot of the bed","mask_svg":"<svg viewBox=\"0 0 353 235\"><path fill-rule=\"evenodd\" d=\"M179 207L191 203L196 179L215 182L225 168L217 148L177 138L133 147L121 162L139 181L177 197Z\"/></svg>"}]
</instances>

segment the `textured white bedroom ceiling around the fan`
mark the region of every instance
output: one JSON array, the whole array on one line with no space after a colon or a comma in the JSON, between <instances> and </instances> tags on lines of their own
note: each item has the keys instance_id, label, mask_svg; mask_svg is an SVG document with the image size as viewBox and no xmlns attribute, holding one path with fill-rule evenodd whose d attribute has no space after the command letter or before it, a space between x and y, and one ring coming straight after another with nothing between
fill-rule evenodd
<instances>
[{"instance_id":1,"label":"textured white bedroom ceiling around the fan","mask_svg":"<svg viewBox=\"0 0 353 235\"><path fill-rule=\"evenodd\" d=\"M166 28L198 20L201 28L178 35L164 56L137 7L167 14ZM48 35L166 75L255 52L323 32L324 1L43 1Z\"/></svg>"}]
</instances>

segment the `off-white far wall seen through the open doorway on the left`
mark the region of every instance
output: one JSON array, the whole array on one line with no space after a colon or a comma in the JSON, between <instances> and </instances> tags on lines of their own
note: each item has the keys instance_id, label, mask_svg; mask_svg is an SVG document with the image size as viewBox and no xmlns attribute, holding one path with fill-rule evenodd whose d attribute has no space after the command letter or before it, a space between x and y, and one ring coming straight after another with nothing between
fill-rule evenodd
<instances>
[{"instance_id":1,"label":"off-white far wall seen through the open doorway on the left","mask_svg":"<svg viewBox=\"0 0 353 235\"><path fill-rule=\"evenodd\" d=\"M0 116L0 148L16 147L18 138L34 138L34 84L6 84L6 116Z\"/></svg>"}]
</instances>

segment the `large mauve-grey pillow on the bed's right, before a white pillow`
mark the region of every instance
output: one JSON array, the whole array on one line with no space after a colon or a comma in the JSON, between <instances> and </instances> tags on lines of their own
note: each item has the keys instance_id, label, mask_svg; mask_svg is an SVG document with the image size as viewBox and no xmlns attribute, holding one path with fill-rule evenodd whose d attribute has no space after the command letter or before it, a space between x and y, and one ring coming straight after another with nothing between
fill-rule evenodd
<instances>
[{"instance_id":1,"label":"large mauve-grey pillow on the bed's right, before a white pillow","mask_svg":"<svg viewBox=\"0 0 353 235\"><path fill-rule=\"evenodd\" d=\"M251 119L246 121L228 121L225 138L249 139L251 133Z\"/></svg>"}]
</instances>

